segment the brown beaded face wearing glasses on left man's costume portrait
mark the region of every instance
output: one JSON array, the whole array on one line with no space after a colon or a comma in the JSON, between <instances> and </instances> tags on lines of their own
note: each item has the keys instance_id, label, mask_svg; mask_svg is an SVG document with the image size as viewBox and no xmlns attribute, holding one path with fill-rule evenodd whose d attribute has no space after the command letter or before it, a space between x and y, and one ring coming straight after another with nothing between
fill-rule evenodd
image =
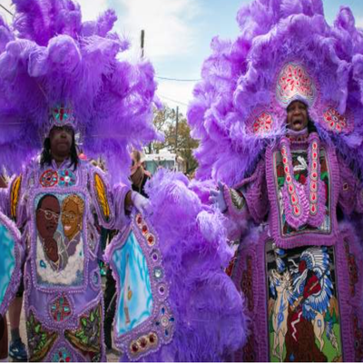
<instances>
[{"instance_id":1,"label":"brown beaded face wearing glasses on left man's costume portrait","mask_svg":"<svg viewBox=\"0 0 363 363\"><path fill-rule=\"evenodd\" d=\"M36 211L36 229L43 238L53 238L57 229L61 208L53 195L45 196L40 209Z\"/></svg>"}]
</instances>

